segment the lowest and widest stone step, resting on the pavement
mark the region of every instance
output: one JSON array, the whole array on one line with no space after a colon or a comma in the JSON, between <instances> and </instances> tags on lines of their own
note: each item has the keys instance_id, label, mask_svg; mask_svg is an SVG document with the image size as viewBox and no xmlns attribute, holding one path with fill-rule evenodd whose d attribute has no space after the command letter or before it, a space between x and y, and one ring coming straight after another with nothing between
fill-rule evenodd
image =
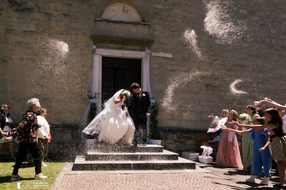
<instances>
[{"instance_id":1,"label":"lowest and widest stone step, resting on the pavement","mask_svg":"<svg viewBox=\"0 0 286 190\"><path fill-rule=\"evenodd\" d=\"M195 168L195 162L181 157L178 160L86 161L84 156L77 156L72 170L188 170Z\"/></svg>"}]
</instances>

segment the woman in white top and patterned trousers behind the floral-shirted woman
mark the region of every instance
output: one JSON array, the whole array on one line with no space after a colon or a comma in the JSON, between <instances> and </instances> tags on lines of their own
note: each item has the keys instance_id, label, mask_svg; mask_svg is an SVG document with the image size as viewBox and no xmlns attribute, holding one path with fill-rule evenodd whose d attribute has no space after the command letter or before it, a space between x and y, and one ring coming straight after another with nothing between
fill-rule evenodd
<instances>
[{"instance_id":1,"label":"woman in white top and patterned trousers behind the floral-shirted woman","mask_svg":"<svg viewBox=\"0 0 286 190\"><path fill-rule=\"evenodd\" d=\"M45 108L40 108L40 111L37 112L37 120L38 120L38 124L42 125L41 128L38 128L38 144L39 147L41 148L41 165L42 166L47 166L44 163L44 158L45 158L45 153L46 153L46 148L47 148L47 142L50 141L51 137L49 137L49 133L50 133L50 126L46 120L46 113L47 110ZM27 159L29 162L34 162L33 156L28 153L27 155Z\"/></svg>"}]
</instances>

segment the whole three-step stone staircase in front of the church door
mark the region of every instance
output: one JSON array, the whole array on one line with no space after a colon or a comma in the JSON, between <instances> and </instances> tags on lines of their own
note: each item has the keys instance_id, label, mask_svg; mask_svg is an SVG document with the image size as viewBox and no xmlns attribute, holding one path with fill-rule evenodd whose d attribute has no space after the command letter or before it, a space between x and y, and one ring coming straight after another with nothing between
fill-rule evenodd
<instances>
[{"instance_id":1,"label":"whole three-step stone staircase in front of the church door","mask_svg":"<svg viewBox=\"0 0 286 190\"><path fill-rule=\"evenodd\" d=\"M72 170L186 170L196 164L159 145L115 146L89 141L86 156L77 156Z\"/></svg>"}]
</instances>

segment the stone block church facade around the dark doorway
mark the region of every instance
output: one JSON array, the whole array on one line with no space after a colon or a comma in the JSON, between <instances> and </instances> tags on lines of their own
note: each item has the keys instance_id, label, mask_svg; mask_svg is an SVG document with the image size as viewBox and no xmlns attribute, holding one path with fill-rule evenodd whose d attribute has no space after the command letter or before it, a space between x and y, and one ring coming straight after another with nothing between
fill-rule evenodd
<instances>
[{"instance_id":1,"label":"stone block church facade around the dark doorway","mask_svg":"<svg viewBox=\"0 0 286 190\"><path fill-rule=\"evenodd\" d=\"M52 124L51 151L59 152L62 142L69 146L80 142L77 125L92 89L100 109L101 101L119 85L135 80L147 88L144 76L149 49L150 88L160 106L163 145L172 151L195 150L195 132L206 132L208 115L220 115L224 108L242 113L246 105L263 97L279 103L284 103L285 97L286 2L233 1L237 6L234 16L248 20L253 31L251 36L239 39L243 45L224 43L204 30L208 3L2 1L0 103L11 106L16 124L27 109L25 102L39 98ZM196 58L183 43L186 29L196 32L206 61ZM42 39L59 39L69 46L66 66L60 72L63 78L39 66L42 44L38 42ZM93 70L94 61L97 67ZM116 65L121 65L119 70ZM128 77L123 81L118 76ZM237 88L247 94L231 91L231 83L238 79L244 82Z\"/></svg>"}]
</instances>

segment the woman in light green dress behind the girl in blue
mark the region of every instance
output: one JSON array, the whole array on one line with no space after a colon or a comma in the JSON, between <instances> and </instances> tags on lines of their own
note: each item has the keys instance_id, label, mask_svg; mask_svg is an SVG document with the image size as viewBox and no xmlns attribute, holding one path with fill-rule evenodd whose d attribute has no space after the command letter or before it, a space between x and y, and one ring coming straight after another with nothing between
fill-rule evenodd
<instances>
[{"instance_id":1,"label":"woman in light green dress behind the girl in blue","mask_svg":"<svg viewBox=\"0 0 286 190\"><path fill-rule=\"evenodd\" d=\"M254 118L260 117L257 114L255 105L246 106L244 112L248 114L252 120ZM253 121L249 121L248 124L252 124L252 122ZM253 143L254 141L251 139L251 136L249 133L242 135L241 146L242 146L242 156L243 156L243 170L246 172L251 172L251 163L252 163L252 157L253 157Z\"/></svg>"}]
</instances>

